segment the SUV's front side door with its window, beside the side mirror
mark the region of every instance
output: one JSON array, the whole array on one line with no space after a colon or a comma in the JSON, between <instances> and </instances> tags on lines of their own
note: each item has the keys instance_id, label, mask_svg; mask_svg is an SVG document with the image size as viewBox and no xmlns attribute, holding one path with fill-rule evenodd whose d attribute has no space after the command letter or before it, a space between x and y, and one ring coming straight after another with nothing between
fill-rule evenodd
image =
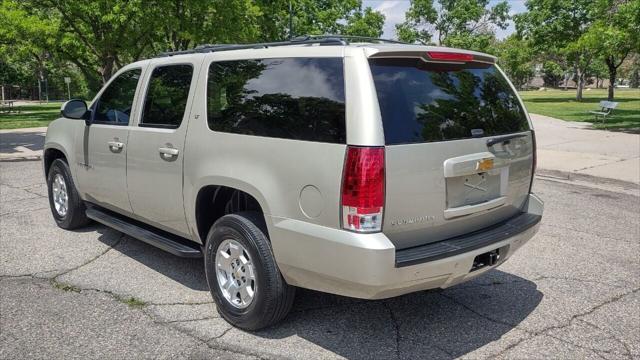
<instances>
[{"instance_id":1,"label":"SUV's front side door with its window, beside the side mirror","mask_svg":"<svg viewBox=\"0 0 640 360\"><path fill-rule=\"evenodd\" d=\"M130 213L127 196L127 137L142 69L117 75L92 105L90 126L77 136L78 183L85 198Z\"/></svg>"}]
</instances>

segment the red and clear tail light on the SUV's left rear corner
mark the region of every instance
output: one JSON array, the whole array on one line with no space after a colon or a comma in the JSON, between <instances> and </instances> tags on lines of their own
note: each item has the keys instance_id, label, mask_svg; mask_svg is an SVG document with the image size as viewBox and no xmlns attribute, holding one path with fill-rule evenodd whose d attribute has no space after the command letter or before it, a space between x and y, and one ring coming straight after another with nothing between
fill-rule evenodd
<instances>
[{"instance_id":1,"label":"red and clear tail light on the SUV's left rear corner","mask_svg":"<svg viewBox=\"0 0 640 360\"><path fill-rule=\"evenodd\" d=\"M382 230L384 147L347 148L342 174L342 227L357 232Z\"/></svg>"}]
</instances>

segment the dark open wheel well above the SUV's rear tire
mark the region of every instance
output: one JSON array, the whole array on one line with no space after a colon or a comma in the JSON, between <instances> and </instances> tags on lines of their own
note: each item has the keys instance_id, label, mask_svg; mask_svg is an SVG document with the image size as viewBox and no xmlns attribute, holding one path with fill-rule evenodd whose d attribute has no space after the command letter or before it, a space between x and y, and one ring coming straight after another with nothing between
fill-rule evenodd
<instances>
[{"instance_id":1,"label":"dark open wheel well above the SUV's rear tire","mask_svg":"<svg viewBox=\"0 0 640 360\"><path fill-rule=\"evenodd\" d=\"M209 229L216 220L240 211L264 214L258 200L242 190L218 185L200 189L196 198L196 225L202 243L206 241Z\"/></svg>"}]
</instances>

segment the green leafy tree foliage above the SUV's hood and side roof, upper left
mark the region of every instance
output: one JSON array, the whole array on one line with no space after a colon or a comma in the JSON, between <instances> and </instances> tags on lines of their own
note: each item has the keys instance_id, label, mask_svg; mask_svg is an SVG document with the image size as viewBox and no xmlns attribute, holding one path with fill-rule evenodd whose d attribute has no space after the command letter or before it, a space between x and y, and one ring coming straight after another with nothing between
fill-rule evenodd
<instances>
[{"instance_id":1,"label":"green leafy tree foliage above the SUV's hood and side roof, upper left","mask_svg":"<svg viewBox=\"0 0 640 360\"><path fill-rule=\"evenodd\" d=\"M382 34L384 16L361 0L3 0L0 62L10 66L1 80L18 81L19 53L35 64L26 72L46 77L55 59L97 90L118 68L159 52L288 38L290 4L294 34Z\"/></svg>"}]
</instances>

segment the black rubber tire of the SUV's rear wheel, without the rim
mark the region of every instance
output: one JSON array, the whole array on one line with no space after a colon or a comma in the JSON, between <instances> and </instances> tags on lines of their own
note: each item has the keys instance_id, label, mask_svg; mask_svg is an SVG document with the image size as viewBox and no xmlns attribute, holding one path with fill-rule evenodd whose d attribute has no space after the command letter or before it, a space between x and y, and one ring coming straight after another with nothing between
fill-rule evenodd
<instances>
[{"instance_id":1,"label":"black rubber tire of the SUV's rear wheel, without the rim","mask_svg":"<svg viewBox=\"0 0 640 360\"><path fill-rule=\"evenodd\" d=\"M231 305L218 285L216 252L225 239L240 243L254 265L256 291L244 309ZM295 287L288 285L278 270L262 214L248 211L218 219L209 231L204 254L211 295L218 312L229 323L244 330L258 330L287 316L293 305Z\"/></svg>"}]
</instances>

